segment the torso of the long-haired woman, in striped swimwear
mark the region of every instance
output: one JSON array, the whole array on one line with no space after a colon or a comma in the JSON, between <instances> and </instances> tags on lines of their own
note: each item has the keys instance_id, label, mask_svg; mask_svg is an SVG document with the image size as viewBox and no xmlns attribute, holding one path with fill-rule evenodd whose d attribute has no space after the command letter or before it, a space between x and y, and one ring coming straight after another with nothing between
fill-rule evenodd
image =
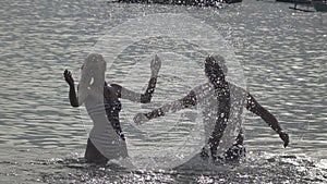
<instances>
[{"instance_id":1,"label":"torso of the long-haired woman, in striped swimwear","mask_svg":"<svg viewBox=\"0 0 327 184\"><path fill-rule=\"evenodd\" d=\"M107 158L128 156L124 135L119 122L121 102L113 93L116 93L113 87L105 86L102 97L88 96L85 100L85 107L94 122L89 138Z\"/></svg>"}]
</instances>

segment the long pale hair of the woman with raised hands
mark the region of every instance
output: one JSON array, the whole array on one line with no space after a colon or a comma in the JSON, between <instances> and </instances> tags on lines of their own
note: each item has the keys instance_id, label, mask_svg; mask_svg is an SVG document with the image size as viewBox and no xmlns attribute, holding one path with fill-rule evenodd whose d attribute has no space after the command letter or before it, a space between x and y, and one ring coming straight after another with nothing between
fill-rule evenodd
<instances>
[{"instance_id":1,"label":"long pale hair of the woman with raised hands","mask_svg":"<svg viewBox=\"0 0 327 184\"><path fill-rule=\"evenodd\" d=\"M88 90L93 88L104 91L106 61L99 53L90 53L82 66L82 74L78 84L78 100L84 101ZM102 97L101 97L102 98Z\"/></svg>"}]
</instances>

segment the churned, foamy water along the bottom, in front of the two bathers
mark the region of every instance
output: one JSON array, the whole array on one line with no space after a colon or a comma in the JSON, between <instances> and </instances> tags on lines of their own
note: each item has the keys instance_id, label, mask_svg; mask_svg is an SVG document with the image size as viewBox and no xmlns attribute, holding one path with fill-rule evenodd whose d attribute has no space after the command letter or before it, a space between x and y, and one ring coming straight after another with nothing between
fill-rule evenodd
<instances>
[{"instance_id":1,"label":"churned, foamy water along the bottom, in front of the two bathers","mask_svg":"<svg viewBox=\"0 0 327 184\"><path fill-rule=\"evenodd\" d=\"M128 170L114 163L86 163L76 152L11 149L12 157L0 162L2 183L326 183L326 160L305 155L250 154L241 162L194 167L183 170ZM29 159L14 156L25 155ZM324 167L325 165L325 167Z\"/></svg>"}]
</instances>

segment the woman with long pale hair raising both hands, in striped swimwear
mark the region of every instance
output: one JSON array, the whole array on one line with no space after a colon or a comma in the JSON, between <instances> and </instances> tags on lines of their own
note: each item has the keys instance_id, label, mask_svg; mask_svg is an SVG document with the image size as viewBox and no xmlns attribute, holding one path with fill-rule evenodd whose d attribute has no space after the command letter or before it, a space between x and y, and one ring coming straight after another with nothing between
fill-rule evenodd
<instances>
[{"instance_id":1,"label":"woman with long pale hair raising both hands, in striped swimwear","mask_svg":"<svg viewBox=\"0 0 327 184\"><path fill-rule=\"evenodd\" d=\"M129 90L118 84L107 84L105 82L106 61L98 53L92 53L86 58L82 66L77 95L71 72L68 70L63 72L70 87L71 106L85 105L94 123L84 156L87 162L104 164L110 159L129 156L125 137L119 121L121 110L119 98L142 103L150 102L160 68L161 61L155 56L150 63L152 76L144 94Z\"/></svg>"}]
</instances>

